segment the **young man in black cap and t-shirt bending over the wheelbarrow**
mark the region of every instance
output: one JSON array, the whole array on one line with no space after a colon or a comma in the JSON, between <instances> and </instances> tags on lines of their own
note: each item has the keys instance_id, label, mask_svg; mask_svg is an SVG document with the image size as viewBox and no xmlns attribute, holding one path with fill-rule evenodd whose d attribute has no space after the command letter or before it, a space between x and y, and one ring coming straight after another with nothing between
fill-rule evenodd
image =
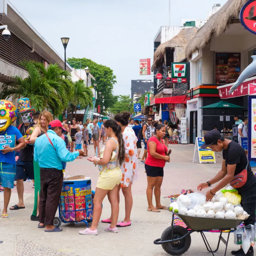
<instances>
[{"instance_id":1,"label":"young man in black cap and t-shirt bending over the wheelbarrow","mask_svg":"<svg viewBox=\"0 0 256 256\"><path fill-rule=\"evenodd\" d=\"M256 211L256 177L252 172L250 163L248 163L247 156L244 149L236 142L227 140L221 136L220 132L212 130L204 135L204 144L201 148L211 148L212 151L220 152L223 154L222 167L220 172L212 179L205 183L198 185L197 189L201 191L203 188L208 188L214 183L218 183L217 186L210 189L206 193L206 201L212 200L212 197L217 191L226 187L229 182L234 179L234 176L247 169L247 181L244 186L236 188L238 194L241 195L241 205L248 214L250 214L247 220L244 220L244 225L254 225L255 223L255 211ZM245 254L242 249L231 252L238 256L252 256L253 247L251 246L249 251Z\"/></svg>"}]
</instances>

